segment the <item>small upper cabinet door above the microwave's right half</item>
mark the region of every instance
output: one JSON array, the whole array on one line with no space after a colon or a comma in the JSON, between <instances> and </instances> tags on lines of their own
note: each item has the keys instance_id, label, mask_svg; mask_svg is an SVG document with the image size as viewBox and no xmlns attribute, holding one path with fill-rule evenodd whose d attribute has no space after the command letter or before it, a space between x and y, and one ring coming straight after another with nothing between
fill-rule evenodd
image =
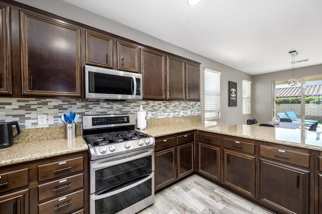
<instances>
[{"instance_id":1,"label":"small upper cabinet door above the microwave's right half","mask_svg":"<svg viewBox=\"0 0 322 214\"><path fill-rule=\"evenodd\" d=\"M117 69L139 73L138 46L117 41Z\"/></svg>"}]
</instances>

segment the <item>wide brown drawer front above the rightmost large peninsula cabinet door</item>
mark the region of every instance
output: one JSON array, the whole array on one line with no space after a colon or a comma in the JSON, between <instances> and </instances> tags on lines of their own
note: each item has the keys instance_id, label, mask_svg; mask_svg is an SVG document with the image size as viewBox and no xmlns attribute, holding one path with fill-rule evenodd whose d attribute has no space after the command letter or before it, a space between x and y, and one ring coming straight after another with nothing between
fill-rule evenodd
<instances>
[{"instance_id":1,"label":"wide brown drawer front above the rightmost large peninsula cabinet door","mask_svg":"<svg viewBox=\"0 0 322 214\"><path fill-rule=\"evenodd\" d=\"M262 157L271 158L274 160L279 160L309 168L309 154L261 145L260 155Z\"/></svg>"}]
</instances>

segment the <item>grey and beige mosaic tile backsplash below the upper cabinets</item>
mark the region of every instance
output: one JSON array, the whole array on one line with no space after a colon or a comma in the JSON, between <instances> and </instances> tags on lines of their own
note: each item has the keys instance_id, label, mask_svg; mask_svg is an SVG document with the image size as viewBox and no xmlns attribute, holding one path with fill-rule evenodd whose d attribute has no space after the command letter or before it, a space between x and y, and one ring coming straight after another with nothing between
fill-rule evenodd
<instances>
[{"instance_id":1,"label":"grey and beige mosaic tile backsplash below the upper cabinets","mask_svg":"<svg viewBox=\"0 0 322 214\"><path fill-rule=\"evenodd\" d=\"M18 121L21 129L62 126L62 114L136 114L143 105L148 119L200 115L199 101L110 101L89 102L76 99L0 98L0 123ZM148 114L150 113L150 114ZM38 125L38 115L47 115L47 124Z\"/></svg>"}]
</instances>

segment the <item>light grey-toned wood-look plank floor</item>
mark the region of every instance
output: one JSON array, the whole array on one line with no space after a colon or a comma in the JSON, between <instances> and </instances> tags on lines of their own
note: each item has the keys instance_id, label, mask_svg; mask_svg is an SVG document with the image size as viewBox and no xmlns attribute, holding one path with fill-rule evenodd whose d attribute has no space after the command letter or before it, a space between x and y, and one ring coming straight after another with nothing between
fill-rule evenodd
<instances>
[{"instance_id":1,"label":"light grey-toned wood-look plank floor","mask_svg":"<svg viewBox=\"0 0 322 214\"><path fill-rule=\"evenodd\" d=\"M154 204L145 213L272 213L255 203L194 174L155 194Z\"/></svg>"}]
</instances>

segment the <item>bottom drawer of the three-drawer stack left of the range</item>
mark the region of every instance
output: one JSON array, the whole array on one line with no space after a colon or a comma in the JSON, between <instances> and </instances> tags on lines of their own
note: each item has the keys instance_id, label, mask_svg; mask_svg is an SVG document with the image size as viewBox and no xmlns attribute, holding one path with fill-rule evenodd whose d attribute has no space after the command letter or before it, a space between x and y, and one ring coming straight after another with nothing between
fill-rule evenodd
<instances>
[{"instance_id":1,"label":"bottom drawer of the three-drawer stack left of the range","mask_svg":"<svg viewBox=\"0 0 322 214\"><path fill-rule=\"evenodd\" d=\"M84 206L84 190L78 190L70 194L38 204L39 213L68 213L71 210Z\"/></svg>"}]
</instances>

